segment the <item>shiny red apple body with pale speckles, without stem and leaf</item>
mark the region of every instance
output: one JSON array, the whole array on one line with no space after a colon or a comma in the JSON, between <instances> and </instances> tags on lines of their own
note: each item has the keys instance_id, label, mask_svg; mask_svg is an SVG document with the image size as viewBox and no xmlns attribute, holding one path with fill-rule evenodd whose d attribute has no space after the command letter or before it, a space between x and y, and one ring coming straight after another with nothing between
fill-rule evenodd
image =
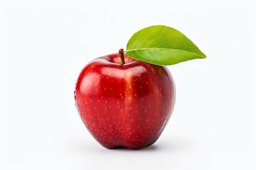
<instances>
[{"instance_id":1,"label":"shiny red apple body with pale speckles, without stem and leaf","mask_svg":"<svg viewBox=\"0 0 256 170\"><path fill-rule=\"evenodd\" d=\"M168 122L176 99L166 67L124 54L98 57L75 85L75 106L87 130L106 148L141 149L152 145Z\"/></svg>"}]
</instances>

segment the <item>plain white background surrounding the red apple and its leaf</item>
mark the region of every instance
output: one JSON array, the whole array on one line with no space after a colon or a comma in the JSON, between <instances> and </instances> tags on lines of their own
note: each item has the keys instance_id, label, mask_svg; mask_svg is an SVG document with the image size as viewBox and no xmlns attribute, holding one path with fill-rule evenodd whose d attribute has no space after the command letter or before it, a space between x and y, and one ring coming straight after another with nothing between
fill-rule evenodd
<instances>
[{"instance_id":1,"label":"plain white background surrounding the red apple and its leaf","mask_svg":"<svg viewBox=\"0 0 256 170\"><path fill-rule=\"evenodd\" d=\"M255 1L10 0L0 11L0 169L255 169ZM154 145L105 149L78 116L75 81L158 24L208 58L169 67L176 108Z\"/></svg>"}]
</instances>

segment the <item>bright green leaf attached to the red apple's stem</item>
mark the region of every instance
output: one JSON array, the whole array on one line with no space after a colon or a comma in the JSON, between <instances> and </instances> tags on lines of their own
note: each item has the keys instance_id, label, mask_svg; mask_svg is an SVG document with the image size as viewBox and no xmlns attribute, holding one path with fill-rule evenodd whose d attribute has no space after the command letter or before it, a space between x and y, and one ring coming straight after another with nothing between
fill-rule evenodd
<instances>
[{"instance_id":1,"label":"bright green leaf attached to the red apple's stem","mask_svg":"<svg viewBox=\"0 0 256 170\"><path fill-rule=\"evenodd\" d=\"M183 33L168 26L150 26L132 35L127 55L157 65L171 65L206 58Z\"/></svg>"}]
</instances>

